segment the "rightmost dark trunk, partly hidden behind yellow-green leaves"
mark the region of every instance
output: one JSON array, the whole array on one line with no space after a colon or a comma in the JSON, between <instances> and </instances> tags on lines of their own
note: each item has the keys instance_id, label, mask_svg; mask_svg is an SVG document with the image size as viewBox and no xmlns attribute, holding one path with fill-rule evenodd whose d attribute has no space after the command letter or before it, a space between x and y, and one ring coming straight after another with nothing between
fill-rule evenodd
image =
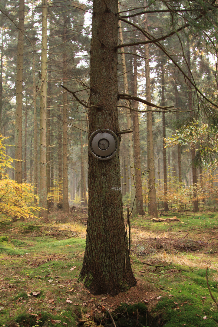
<instances>
[{"instance_id":1,"label":"rightmost dark trunk, partly hidden behind yellow-green leaves","mask_svg":"<svg viewBox=\"0 0 218 327\"><path fill-rule=\"evenodd\" d=\"M190 57L190 45L189 41L187 41L188 46L188 53L187 53L187 63L188 63L188 77L189 79L192 78L191 76L191 57ZM190 82L188 81L188 95L189 95L189 110L190 110L190 116L194 115L193 111L193 101L192 101L192 86ZM195 146L194 144L191 145L191 152L192 152L192 181L193 181L193 211L198 212L198 200L197 200L197 168L194 165L194 158L195 158Z\"/></svg>"}]
</instances>

